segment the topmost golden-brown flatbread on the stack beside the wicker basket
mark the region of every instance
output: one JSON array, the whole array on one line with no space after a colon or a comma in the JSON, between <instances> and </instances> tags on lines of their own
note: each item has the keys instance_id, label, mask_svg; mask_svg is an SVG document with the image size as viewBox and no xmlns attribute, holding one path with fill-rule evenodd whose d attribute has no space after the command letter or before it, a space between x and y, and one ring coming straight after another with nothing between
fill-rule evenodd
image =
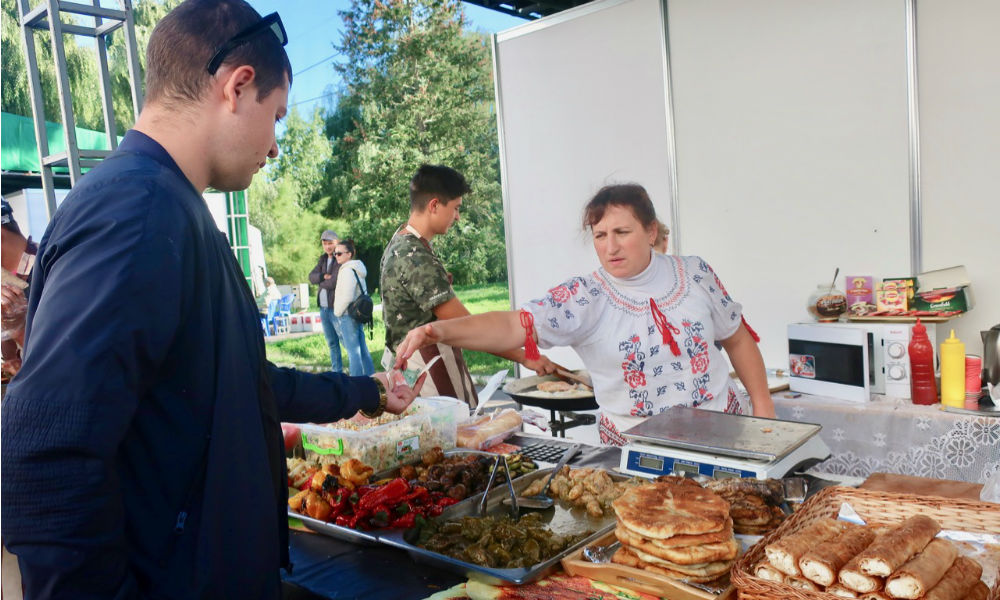
<instances>
[{"instance_id":1,"label":"topmost golden-brown flatbread on the stack beside the wicker basket","mask_svg":"<svg viewBox=\"0 0 1000 600\"><path fill-rule=\"evenodd\" d=\"M714 492L690 485L637 486L611 506L620 523L648 539L722 531L729 522L728 502Z\"/></svg>"}]
</instances>

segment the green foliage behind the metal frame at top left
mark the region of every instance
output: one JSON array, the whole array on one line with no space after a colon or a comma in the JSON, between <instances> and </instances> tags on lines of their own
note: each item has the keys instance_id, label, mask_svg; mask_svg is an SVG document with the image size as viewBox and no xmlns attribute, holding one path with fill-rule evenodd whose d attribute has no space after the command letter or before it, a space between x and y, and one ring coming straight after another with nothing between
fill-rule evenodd
<instances>
[{"instance_id":1,"label":"green foliage behind the metal frame at top left","mask_svg":"<svg viewBox=\"0 0 1000 600\"><path fill-rule=\"evenodd\" d=\"M3 91L2 109L16 115L31 116L31 99L28 87L27 62L18 23L17 0L0 0L2 5L2 68ZM147 0L136 4L133 11L136 39L140 62L145 57L146 44L153 26L180 0ZM34 2L33 4L38 4ZM77 21L63 16L64 23L78 22L90 26L92 19L79 17ZM34 34L35 53L41 80L43 105L47 121L62 122L58 102L55 63L52 58L52 43L48 31ZM93 42L86 46L78 43L77 37L63 36L66 52L66 74L69 79L73 115L77 127L104 131L104 116L101 109L97 52ZM112 103L115 109L115 123L118 134L132 126L132 93L129 87L128 70L125 60L124 35L120 31L111 37L108 49L109 71L111 75ZM141 74L140 74L141 79ZM141 81L140 81L141 85Z\"/></svg>"}]
</instances>

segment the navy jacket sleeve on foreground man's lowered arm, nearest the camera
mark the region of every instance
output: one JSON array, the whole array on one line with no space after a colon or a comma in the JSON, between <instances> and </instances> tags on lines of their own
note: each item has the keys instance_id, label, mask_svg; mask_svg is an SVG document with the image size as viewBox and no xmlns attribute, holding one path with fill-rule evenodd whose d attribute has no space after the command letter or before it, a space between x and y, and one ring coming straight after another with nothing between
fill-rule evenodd
<instances>
[{"instance_id":1,"label":"navy jacket sleeve on foreground man's lowered arm, nearest the camera","mask_svg":"<svg viewBox=\"0 0 1000 600\"><path fill-rule=\"evenodd\" d=\"M116 184L130 202L150 194ZM139 594L115 460L178 326L183 243L154 226L155 202L139 204L66 211L36 263L24 368L2 415L3 539L28 598Z\"/></svg>"}]
</instances>

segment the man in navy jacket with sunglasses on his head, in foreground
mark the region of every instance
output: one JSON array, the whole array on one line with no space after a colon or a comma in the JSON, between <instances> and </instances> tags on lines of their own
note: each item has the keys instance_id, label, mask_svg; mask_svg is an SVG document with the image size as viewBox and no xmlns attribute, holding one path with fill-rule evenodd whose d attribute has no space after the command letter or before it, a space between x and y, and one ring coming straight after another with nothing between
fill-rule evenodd
<instances>
[{"instance_id":1,"label":"man in navy jacket with sunglasses on his head, in foreground","mask_svg":"<svg viewBox=\"0 0 1000 600\"><path fill-rule=\"evenodd\" d=\"M171 11L134 129L49 224L0 418L2 537L27 598L279 598L280 421L399 413L415 396L384 373L267 362L201 197L277 156L284 42L277 13L243 0Z\"/></svg>"}]
</instances>

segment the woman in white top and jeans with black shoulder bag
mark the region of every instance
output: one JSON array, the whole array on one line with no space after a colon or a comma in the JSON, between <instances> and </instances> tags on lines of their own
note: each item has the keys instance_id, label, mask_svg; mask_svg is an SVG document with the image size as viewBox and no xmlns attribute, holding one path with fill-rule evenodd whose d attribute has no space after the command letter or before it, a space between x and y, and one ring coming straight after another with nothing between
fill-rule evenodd
<instances>
[{"instance_id":1,"label":"woman in white top and jeans with black shoulder bag","mask_svg":"<svg viewBox=\"0 0 1000 600\"><path fill-rule=\"evenodd\" d=\"M371 375L375 372L375 365L365 343L363 327L372 322L372 300L364 284L368 270L354 255L354 242L351 240L342 240L333 253L340 264L337 288L333 294L334 325L347 350L351 375Z\"/></svg>"}]
</instances>

